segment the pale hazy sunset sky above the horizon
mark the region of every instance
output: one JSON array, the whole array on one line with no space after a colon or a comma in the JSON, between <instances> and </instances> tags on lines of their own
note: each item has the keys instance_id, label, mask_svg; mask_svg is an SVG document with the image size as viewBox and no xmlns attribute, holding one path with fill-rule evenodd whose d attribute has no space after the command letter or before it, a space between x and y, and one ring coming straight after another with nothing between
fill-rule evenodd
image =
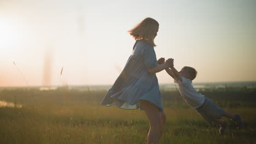
<instances>
[{"instance_id":1,"label":"pale hazy sunset sky above the horizon","mask_svg":"<svg viewBox=\"0 0 256 144\"><path fill-rule=\"evenodd\" d=\"M254 0L0 0L0 87L112 85L135 43L127 31L146 17L160 24L156 57L173 58L178 70L194 67L194 82L256 81L255 7ZM157 76L173 83L165 71Z\"/></svg>"}]
</instances>

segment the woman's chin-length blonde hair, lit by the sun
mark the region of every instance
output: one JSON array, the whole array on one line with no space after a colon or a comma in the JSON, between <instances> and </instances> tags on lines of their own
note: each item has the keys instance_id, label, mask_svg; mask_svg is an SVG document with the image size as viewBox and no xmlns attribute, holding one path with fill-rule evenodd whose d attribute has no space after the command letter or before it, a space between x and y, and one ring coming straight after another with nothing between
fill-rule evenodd
<instances>
[{"instance_id":1,"label":"woman's chin-length blonde hair, lit by the sun","mask_svg":"<svg viewBox=\"0 0 256 144\"><path fill-rule=\"evenodd\" d=\"M147 17L143 21L139 22L138 25L133 27L130 31L128 31L132 37L136 40L143 39L146 40L149 44L156 46L154 43L154 39L156 33L158 32L159 23Z\"/></svg>"}]
</instances>

